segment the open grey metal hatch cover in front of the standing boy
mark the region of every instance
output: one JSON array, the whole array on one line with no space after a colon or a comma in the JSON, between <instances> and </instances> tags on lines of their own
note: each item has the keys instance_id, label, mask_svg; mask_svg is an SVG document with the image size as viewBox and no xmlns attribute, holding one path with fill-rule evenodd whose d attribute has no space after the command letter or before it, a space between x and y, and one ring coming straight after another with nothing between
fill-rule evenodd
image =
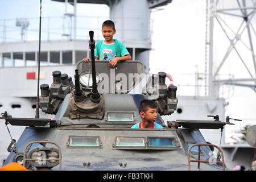
<instances>
[{"instance_id":1,"label":"open grey metal hatch cover in front of the standing boy","mask_svg":"<svg viewBox=\"0 0 256 182\"><path fill-rule=\"evenodd\" d=\"M119 61L115 68L110 68L109 61L95 61L99 93L115 93L119 88L120 93L128 93L144 77L144 65L141 61ZM90 74L92 62L80 61L77 63L80 77ZM88 76L89 77L89 76ZM103 79L102 79L103 78ZM81 82L80 82L81 84ZM88 85L90 86L89 82Z\"/></svg>"}]
</instances>

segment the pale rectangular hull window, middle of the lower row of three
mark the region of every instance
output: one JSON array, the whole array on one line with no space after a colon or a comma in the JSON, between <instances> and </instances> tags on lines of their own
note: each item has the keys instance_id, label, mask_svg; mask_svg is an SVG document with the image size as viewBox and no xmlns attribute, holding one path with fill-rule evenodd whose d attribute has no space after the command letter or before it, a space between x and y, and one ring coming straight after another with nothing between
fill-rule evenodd
<instances>
[{"instance_id":1,"label":"pale rectangular hull window, middle of the lower row of three","mask_svg":"<svg viewBox=\"0 0 256 182\"><path fill-rule=\"evenodd\" d=\"M117 137L115 147L146 147L143 137Z\"/></svg>"}]
</instances>

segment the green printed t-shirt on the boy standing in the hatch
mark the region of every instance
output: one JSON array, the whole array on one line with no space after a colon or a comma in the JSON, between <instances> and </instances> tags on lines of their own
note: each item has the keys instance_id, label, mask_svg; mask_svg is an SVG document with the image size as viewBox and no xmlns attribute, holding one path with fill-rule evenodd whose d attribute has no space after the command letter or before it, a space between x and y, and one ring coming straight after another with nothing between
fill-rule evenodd
<instances>
[{"instance_id":1,"label":"green printed t-shirt on the boy standing in the hatch","mask_svg":"<svg viewBox=\"0 0 256 182\"><path fill-rule=\"evenodd\" d=\"M100 53L98 53L98 46L100 46ZM96 43L95 56L98 57L99 60L106 61L115 57L120 57L120 55L117 55L117 51L115 50L116 46L119 46L121 57L130 54L125 45L123 45L123 43L120 41L118 41L118 44L115 42L112 44L106 44L104 41L99 41Z\"/></svg>"}]
</instances>

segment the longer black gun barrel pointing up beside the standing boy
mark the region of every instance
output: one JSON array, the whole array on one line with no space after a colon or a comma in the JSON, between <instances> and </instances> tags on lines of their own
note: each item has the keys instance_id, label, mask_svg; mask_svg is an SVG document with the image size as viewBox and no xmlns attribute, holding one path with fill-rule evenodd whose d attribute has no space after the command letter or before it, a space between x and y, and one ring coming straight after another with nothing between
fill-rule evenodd
<instances>
[{"instance_id":1,"label":"longer black gun barrel pointing up beside the standing boy","mask_svg":"<svg viewBox=\"0 0 256 182\"><path fill-rule=\"evenodd\" d=\"M91 60L92 60L92 80L93 80L93 85L92 85L92 95L90 99L93 102L98 102L100 100L100 94L98 93L97 89L97 82L96 82L96 67L95 67L95 57L94 57L94 49L95 49L95 40L93 40L93 31L89 31L90 35L90 40L89 40L89 48L90 48L90 55L91 55Z\"/></svg>"}]
</instances>

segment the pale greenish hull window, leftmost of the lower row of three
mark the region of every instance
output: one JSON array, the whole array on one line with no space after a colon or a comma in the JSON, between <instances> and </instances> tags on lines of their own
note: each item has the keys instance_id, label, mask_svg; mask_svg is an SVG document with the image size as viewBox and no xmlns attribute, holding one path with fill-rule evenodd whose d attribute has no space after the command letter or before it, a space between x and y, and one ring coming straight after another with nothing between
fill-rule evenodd
<instances>
[{"instance_id":1,"label":"pale greenish hull window, leftmost of the lower row of three","mask_svg":"<svg viewBox=\"0 0 256 182\"><path fill-rule=\"evenodd\" d=\"M69 145L73 147L100 147L98 137L69 137Z\"/></svg>"}]
</instances>

